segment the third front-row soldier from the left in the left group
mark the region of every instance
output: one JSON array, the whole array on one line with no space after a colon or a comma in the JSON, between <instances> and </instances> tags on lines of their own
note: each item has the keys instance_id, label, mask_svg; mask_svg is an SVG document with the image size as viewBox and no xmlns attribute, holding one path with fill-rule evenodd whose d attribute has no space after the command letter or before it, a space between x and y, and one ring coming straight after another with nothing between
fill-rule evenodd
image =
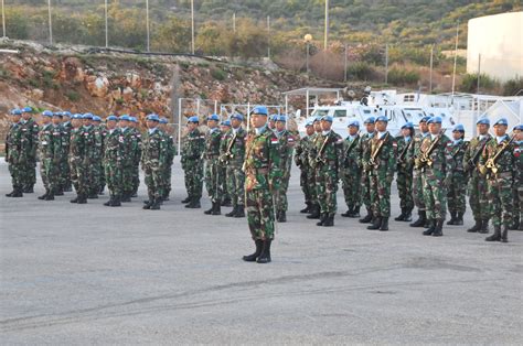
<instances>
[{"instance_id":1,"label":"third front-row soldier from the left in the left group","mask_svg":"<svg viewBox=\"0 0 523 346\"><path fill-rule=\"evenodd\" d=\"M88 159L83 118L84 117L79 113L73 116L73 129L70 137L71 181L76 191L76 197L71 199L71 203L77 204L86 204L88 194Z\"/></svg>"}]
</instances>

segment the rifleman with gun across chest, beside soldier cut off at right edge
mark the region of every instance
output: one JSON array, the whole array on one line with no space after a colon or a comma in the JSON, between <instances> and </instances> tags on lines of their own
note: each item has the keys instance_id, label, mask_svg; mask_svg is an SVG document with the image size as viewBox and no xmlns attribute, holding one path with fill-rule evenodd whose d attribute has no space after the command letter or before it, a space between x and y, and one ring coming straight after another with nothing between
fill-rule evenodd
<instances>
[{"instance_id":1,"label":"rifleman with gun across chest, beside soldier cut off at right edge","mask_svg":"<svg viewBox=\"0 0 523 346\"><path fill-rule=\"evenodd\" d=\"M509 241L509 227L513 217L512 186L517 167L515 161L515 138L506 134L509 121L500 118L494 123L494 138L491 138L480 156L480 174L487 177L489 187L489 208L494 234L485 241ZM503 226L503 233L501 233Z\"/></svg>"}]
</instances>

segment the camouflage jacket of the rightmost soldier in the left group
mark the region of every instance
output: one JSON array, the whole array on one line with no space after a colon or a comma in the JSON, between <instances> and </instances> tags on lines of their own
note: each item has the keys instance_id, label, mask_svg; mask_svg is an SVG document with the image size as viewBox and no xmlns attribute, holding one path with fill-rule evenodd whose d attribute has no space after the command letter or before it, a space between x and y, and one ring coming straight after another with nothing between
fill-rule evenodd
<instances>
[{"instance_id":1,"label":"camouflage jacket of the rightmost soldier in the left group","mask_svg":"<svg viewBox=\"0 0 523 346\"><path fill-rule=\"evenodd\" d=\"M148 169L163 169L168 164L166 136L156 128L141 138L141 164Z\"/></svg>"}]
</instances>

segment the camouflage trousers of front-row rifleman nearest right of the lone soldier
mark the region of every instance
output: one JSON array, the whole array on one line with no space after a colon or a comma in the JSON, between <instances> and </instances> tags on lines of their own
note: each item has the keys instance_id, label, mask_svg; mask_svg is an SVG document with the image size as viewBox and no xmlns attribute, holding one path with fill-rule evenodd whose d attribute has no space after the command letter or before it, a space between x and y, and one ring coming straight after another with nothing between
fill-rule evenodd
<instances>
[{"instance_id":1,"label":"camouflage trousers of front-row rifleman nearest right of the lone soldier","mask_svg":"<svg viewBox=\"0 0 523 346\"><path fill-rule=\"evenodd\" d=\"M316 171L314 181L320 213L334 216L338 210L335 197L338 192L338 172L330 166L321 166Z\"/></svg>"}]
</instances>

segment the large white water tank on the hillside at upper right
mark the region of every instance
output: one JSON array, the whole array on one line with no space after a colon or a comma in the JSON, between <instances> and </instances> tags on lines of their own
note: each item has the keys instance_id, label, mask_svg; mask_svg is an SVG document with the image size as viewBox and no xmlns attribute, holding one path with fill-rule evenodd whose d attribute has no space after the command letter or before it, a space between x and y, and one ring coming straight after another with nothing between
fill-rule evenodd
<instances>
[{"instance_id":1,"label":"large white water tank on the hillside at upper right","mask_svg":"<svg viewBox=\"0 0 523 346\"><path fill-rule=\"evenodd\" d=\"M467 73L480 72L500 82L523 77L523 12L469 20Z\"/></svg>"}]
</instances>

